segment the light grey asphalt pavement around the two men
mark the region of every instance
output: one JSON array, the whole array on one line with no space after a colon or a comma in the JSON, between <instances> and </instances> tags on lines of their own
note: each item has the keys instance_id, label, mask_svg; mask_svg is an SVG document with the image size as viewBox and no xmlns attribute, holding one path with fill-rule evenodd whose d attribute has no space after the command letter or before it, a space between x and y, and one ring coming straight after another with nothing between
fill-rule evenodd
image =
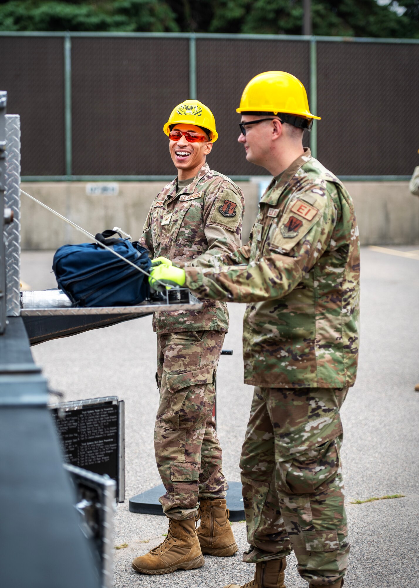
<instances>
[{"instance_id":1,"label":"light grey asphalt pavement around the two men","mask_svg":"<svg viewBox=\"0 0 419 588\"><path fill-rule=\"evenodd\" d=\"M417 248L392 248L398 252ZM51 252L22 254L22 279L33 289L52 288ZM361 255L361 352L357 383L342 409L345 430L343 466L352 551L345 588L419 586L419 265L411 258L364 248ZM252 387L242 383L243 305L229 305L231 330L218 372L218 432L224 472L239 480L239 454L248 420ZM156 336L146 317L59 339L33 348L53 389L65 400L118 395L126 401L126 502L117 506L114 544L116 588L138 586L219 588L244 583L252 566L236 554L205 556L205 566L167 576L141 576L131 559L163 540L165 517L128 510L129 497L160 483L153 453L157 409L154 380ZM400 493L404 498L361 505L367 499ZM239 553L246 547L245 524L232 524ZM307 586L289 558L288 588Z\"/></svg>"}]
</instances>

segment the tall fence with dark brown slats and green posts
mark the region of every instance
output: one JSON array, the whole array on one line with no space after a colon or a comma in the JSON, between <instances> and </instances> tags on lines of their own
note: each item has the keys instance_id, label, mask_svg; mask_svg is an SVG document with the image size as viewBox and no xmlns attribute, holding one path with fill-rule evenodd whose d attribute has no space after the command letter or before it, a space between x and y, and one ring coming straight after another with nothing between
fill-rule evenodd
<instances>
[{"instance_id":1,"label":"tall fence with dark brown slats and green posts","mask_svg":"<svg viewBox=\"0 0 419 588\"><path fill-rule=\"evenodd\" d=\"M211 108L210 165L266 174L236 139L252 76L288 71L322 116L305 138L341 177L410 175L417 164L419 41L270 35L0 33L2 89L22 120L22 176L173 176L163 124L187 98Z\"/></svg>"}]
</instances>

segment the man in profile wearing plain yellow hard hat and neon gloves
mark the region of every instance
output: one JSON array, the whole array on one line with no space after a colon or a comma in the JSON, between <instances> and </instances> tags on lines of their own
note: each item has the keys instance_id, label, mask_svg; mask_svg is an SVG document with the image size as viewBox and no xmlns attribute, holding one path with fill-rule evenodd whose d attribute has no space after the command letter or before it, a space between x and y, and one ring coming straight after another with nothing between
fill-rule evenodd
<instances>
[{"instance_id":1,"label":"man in profile wearing plain yellow hard hat and neon gloves","mask_svg":"<svg viewBox=\"0 0 419 588\"><path fill-rule=\"evenodd\" d=\"M250 544L243 560L256 569L241 588L285 588L292 550L310 588L342 588L349 539L339 410L355 382L359 345L353 203L303 148L303 129L319 117L297 78L255 76L237 112L246 159L273 176L250 242L204 269L161 266L149 281L248 303L245 382L255 392L241 456Z\"/></svg>"}]
</instances>

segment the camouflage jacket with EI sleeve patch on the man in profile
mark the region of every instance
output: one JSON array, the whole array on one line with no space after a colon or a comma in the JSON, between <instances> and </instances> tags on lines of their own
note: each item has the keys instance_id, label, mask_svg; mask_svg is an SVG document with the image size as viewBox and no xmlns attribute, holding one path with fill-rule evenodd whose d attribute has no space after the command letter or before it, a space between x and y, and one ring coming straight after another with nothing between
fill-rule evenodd
<instances>
[{"instance_id":1,"label":"camouflage jacket with EI sleeve patch on the man in profile","mask_svg":"<svg viewBox=\"0 0 419 588\"><path fill-rule=\"evenodd\" d=\"M211 265L186 268L186 284L201 296L248 303L246 383L353 385L359 231L346 189L309 149L268 186L249 243Z\"/></svg>"}]
</instances>

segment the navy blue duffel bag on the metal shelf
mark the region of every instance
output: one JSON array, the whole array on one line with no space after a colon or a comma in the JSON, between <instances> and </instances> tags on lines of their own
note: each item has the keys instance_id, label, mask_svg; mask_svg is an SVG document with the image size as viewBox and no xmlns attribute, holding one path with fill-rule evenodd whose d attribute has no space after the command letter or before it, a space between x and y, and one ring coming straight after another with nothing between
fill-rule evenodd
<instances>
[{"instance_id":1,"label":"navy blue duffel bag on the metal shelf","mask_svg":"<svg viewBox=\"0 0 419 588\"><path fill-rule=\"evenodd\" d=\"M52 269L73 306L131 306L150 296L144 273L98 245L104 243L148 273L148 250L137 241L110 239L115 233L104 230L95 236L97 243L63 245L56 251Z\"/></svg>"}]
</instances>

